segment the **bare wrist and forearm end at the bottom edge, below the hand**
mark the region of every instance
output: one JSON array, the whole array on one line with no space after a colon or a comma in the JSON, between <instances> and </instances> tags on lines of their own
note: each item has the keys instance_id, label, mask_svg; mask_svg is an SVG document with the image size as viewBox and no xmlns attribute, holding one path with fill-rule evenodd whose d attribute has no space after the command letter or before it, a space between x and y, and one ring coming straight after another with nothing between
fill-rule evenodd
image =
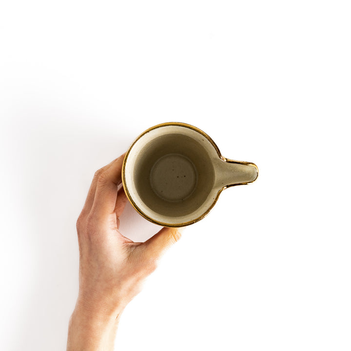
<instances>
[{"instance_id":1,"label":"bare wrist and forearm end at the bottom edge, below the hand","mask_svg":"<svg viewBox=\"0 0 351 351\"><path fill-rule=\"evenodd\" d=\"M119 316L76 307L68 327L67 351L113 351Z\"/></svg>"}]
</instances>

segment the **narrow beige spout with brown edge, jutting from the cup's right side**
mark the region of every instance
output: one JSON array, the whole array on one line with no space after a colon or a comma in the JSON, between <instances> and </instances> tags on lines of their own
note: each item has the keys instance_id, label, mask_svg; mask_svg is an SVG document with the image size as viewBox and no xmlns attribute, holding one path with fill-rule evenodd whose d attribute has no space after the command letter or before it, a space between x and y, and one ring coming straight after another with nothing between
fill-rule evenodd
<instances>
[{"instance_id":1,"label":"narrow beige spout with brown edge, jutting from the cup's right side","mask_svg":"<svg viewBox=\"0 0 351 351\"><path fill-rule=\"evenodd\" d=\"M258 176L258 168L251 162L234 161L222 156L214 166L215 187L218 189L252 183Z\"/></svg>"}]
</instances>

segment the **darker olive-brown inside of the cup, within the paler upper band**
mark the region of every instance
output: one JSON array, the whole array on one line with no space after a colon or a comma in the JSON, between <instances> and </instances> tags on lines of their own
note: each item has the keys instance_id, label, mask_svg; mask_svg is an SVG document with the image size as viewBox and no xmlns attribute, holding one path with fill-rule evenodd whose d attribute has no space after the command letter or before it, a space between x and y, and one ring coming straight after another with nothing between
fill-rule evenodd
<instances>
[{"instance_id":1,"label":"darker olive-brown inside of the cup, within the paler upper band","mask_svg":"<svg viewBox=\"0 0 351 351\"><path fill-rule=\"evenodd\" d=\"M200 134L165 134L138 150L133 180L141 211L146 206L163 217L182 217L201 207L215 179L205 141Z\"/></svg>"}]
</instances>

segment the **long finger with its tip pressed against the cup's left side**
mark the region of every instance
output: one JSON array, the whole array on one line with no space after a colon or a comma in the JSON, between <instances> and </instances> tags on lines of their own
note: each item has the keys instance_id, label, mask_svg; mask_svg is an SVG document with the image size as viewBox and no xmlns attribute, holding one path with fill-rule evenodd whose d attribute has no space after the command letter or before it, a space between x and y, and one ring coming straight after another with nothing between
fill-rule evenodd
<instances>
[{"instance_id":1,"label":"long finger with its tip pressed against the cup's left side","mask_svg":"<svg viewBox=\"0 0 351 351\"><path fill-rule=\"evenodd\" d=\"M110 167L99 174L92 211L97 215L109 215L115 211L118 185L122 181L124 155L112 162Z\"/></svg>"}]
</instances>

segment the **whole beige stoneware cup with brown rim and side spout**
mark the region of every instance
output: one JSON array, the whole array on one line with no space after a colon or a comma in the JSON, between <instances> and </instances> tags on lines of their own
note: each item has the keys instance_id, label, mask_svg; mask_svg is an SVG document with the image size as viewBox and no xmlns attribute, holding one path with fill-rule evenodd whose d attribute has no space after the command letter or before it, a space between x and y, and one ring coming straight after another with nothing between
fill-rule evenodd
<instances>
[{"instance_id":1,"label":"whole beige stoneware cup with brown rim and side spout","mask_svg":"<svg viewBox=\"0 0 351 351\"><path fill-rule=\"evenodd\" d=\"M137 212L164 227L183 227L204 218L220 193L252 183L254 163L221 156L215 142L185 123L158 124L142 133L126 153L124 191Z\"/></svg>"}]
</instances>

